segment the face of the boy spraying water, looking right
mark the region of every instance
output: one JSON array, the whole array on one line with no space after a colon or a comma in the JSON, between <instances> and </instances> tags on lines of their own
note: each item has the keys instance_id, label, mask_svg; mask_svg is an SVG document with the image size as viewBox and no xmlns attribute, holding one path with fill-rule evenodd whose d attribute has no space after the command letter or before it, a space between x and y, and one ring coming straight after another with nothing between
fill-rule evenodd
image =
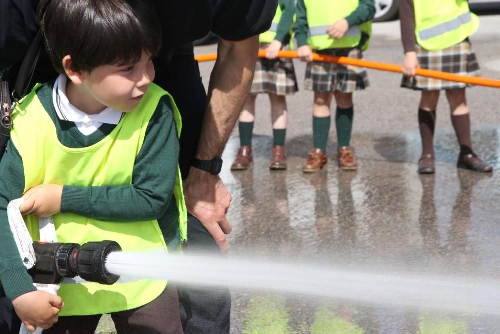
<instances>
[{"instance_id":1,"label":"face of the boy spraying water, looking right","mask_svg":"<svg viewBox=\"0 0 500 334\"><path fill-rule=\"evenodd\" d=\"M111 107L129 112L138 106L154 75L151 56L142 51L135 64L101 65L91 72L82 72L81 85L103 109Z\"/></svg>"}]
</instances>

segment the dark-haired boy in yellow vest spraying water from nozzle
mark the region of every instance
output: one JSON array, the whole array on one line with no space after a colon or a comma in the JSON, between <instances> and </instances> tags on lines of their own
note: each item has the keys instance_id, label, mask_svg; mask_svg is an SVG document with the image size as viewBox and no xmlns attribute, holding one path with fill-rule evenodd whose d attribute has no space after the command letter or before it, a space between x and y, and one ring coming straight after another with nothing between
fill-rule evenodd
<instances>
[{"instance_id":1,"label":"dark-haired boy in yellow vest spraying water from nozzle","mask_svg":"<svg viewBox=\"0 0 500 334\"><path fill-rule=\"evenodd\" d=\"M59 242L114 240L123 251L166 252L186 238L181 120L151 83L161 41L154 11L131 0L43 0L40 9L61 74L16 107L0 163L0 331L18 333L15 311L29 330L60 315L49 333L93 333L103 313L118 332L180 333L177 292L165 281L63 282L53 296L36 291L23 266L6 215L21 196L33 240L38 216L51 215Z\"/></svg>"}]
</instances>

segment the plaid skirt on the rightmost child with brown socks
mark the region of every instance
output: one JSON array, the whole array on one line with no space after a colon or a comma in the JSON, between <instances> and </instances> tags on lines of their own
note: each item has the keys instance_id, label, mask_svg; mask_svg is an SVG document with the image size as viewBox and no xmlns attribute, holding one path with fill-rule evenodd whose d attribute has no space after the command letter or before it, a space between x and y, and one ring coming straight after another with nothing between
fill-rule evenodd
<instances>
[{"instance_id":1,"label":"plaid skirt on the rightmost child with brown socks","mask_svg":"<svg viewBox=\"0 0 500 334\"><path fill-rule=\"evenodd\" d=\"M429 51L416 46L418 63L422 69L449 72L459 75L478 76L479 63L468 40L443 50ZM415 90L433 91L465 88L472 85L421 76L403 76L401 87Z\"/></svg>"}]
</instances>

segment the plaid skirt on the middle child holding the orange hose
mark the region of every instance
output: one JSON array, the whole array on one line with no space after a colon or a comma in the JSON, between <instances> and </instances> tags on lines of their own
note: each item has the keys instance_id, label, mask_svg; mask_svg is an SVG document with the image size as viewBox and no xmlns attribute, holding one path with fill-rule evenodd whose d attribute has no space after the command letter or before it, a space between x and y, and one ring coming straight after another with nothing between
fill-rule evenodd
<instances>
[{"instance_id":1,"label":"plaid skirt on the middle child holding the orange hose","mask_svg":"<svg viewBox=\"0 0 500 334\"><path fill-rule=\"evenodd\" d=\"M315 51L332 56L362 59L359 49L326 49ZM352 93L369 86L368 74L364 67L335 63L311 62L305 69L305 89L314 92L340 91Z\"/></svg>"}]
</instances>

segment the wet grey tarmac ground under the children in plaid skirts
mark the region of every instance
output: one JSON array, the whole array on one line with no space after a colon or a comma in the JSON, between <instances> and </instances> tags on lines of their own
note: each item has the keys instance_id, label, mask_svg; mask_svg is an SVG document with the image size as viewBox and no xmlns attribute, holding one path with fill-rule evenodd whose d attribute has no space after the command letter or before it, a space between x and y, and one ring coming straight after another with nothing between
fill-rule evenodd
<instances>
[{"instance_id":1,"label":"wet grey tarmac ground under the children in plaid skirts","mask_svg":"<svg viewBox=\"0 0 500 334\"><path fill-rule=\"evenodd\" d=\"M471 38L481 74L500 79L499 15L482 15ZM401 64L399 22L376 23L367 60ZM216 47L197 47L197 54ZM300 91L287 99L288 170L270 171L272 129L266 96L257 99L250 169L231 172L237 127L225 149L221 177L233 201L229 256L292 258L338 268L454 277L500 275L500 90L467 90L476 153L490 174L455 167L458 145L444 94L437 109L436 173L419 176L419 93L399 88L399 74L368 70L371 86L354 94L352 146L357 172L335 160L312 174L302 165L312 148L312 92L305 64L295 60ZM200 63L205 86L213 63ZM334 104L332 104L334 109ZM334 122L328 152L336 148ZM286 277L283 277L285 280ZM500 283L500 282L499 282ZM364 305L355 301L232 291L233 333L497 333L500 317ZM102 330L102 332L108 332Z\"/></svg>"}]
</instances>

